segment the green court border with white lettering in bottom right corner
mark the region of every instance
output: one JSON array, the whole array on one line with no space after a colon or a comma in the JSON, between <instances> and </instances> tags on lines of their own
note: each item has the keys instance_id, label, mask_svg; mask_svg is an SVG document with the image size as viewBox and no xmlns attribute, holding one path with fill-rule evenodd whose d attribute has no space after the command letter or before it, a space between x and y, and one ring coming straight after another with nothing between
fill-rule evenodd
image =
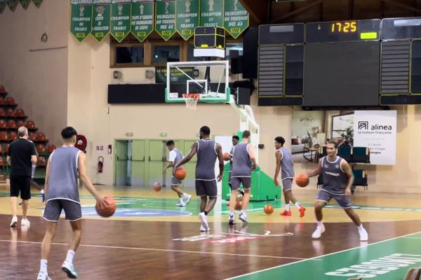
<instances>
[{"instance_id":1,"label":"green court border with white lettering in bottom right corner","mask_svg":"<svg viewBox=\"0 0 421 280\"><path fill-rule=\"evenodd\" d=\"M326 235L326 233L325 233ZM230 279L314 279L335 280L363 276L363 279L403 279L412 267L421 266L420 232L350 248L278 267L263 269ZM321 245L323 241L314 241ZM315 261L321 260L321 261Z\"/></svg>"}]
</instances>

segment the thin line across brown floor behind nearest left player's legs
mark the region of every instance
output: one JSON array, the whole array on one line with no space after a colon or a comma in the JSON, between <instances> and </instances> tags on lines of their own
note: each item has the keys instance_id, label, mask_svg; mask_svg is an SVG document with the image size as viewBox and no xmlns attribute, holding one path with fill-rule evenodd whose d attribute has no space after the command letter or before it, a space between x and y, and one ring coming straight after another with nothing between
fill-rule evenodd
<instances>
[{"instance_id":1,"label":"thin line across brown floor behind nearest left player's legs","mask_svg":"<svg viewBox=\"0 0 421 280\"><path fill-rule=\"evenodd\" d=\"M1 240L4 243L22 243L22 244L42 244L39 241L21 241L21 240ZM52 245L69 246L66 243L51 243ZM220 252L203 252L203 251L184 251L184 250L171 250L171 249L159 249L159 248L141 248L141 247L123 247L123 246L105 246L105 245L90 245L80 244L79 247L89 248L112 248L112 249L126 249L126 250L139 250L139 251L159 251L159 252L175 252L175 253L197 253L203 255L230 255L230 256L241 256L251 258L278 258L278 259L291 259L291 260L306 260L305 258L293 258L293 257L280 257L277 255L247 255L247 254L235 254L235 253L220 253Z\"/></svg>"}]
</instances>

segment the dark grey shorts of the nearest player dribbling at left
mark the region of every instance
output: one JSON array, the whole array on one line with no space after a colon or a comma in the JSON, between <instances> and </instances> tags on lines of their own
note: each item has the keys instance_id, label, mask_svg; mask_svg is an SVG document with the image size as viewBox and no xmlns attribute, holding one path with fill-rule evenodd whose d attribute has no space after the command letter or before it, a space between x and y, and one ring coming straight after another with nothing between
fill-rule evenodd
<instances>
[{"instance_id":1,"label":"dark grey shorts of the nearest player dribbling at left","mask_svg":"<svg viewBox=\"0 0 421 280\"><path fill-rule=\"evenodd\" d=\"M77 221L82 218L81 204L72 200L48 200L44 210L44 220L58 222L62 210L65 211L66 220Z\"/></svg>"}]
</instances>

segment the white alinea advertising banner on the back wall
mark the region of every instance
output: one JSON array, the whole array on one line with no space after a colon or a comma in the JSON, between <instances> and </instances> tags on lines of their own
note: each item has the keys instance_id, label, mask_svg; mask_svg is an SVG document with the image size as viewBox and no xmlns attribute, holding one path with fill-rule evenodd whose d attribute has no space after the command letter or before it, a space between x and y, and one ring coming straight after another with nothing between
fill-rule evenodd
<instances>
[{"instance_id":1,"label":"white alinea advertising banner on the back wall","mask_svg":"<svg viewBox=\"0 0 421 280\"><path fill-rule=\"evenodd\" d=\"M372 165L396 164L396 111L355 111L354 146L370 148Z\"/></svg>"}]
</instances>

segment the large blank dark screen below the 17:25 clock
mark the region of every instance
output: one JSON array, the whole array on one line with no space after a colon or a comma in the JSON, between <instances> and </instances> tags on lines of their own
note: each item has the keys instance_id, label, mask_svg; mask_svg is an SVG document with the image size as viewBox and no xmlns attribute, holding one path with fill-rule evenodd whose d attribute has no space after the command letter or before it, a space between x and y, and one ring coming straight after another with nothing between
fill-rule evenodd
<instances>
[{"instance_id":1,"label":"large blank dark screen below the 17:25 clock","mask_svg":"<svg viewBox=\"0 0 421 280\"><path fill-rule=\"evenodd\" d=\"M378 106L380 41L307 43L303 106Z\"/></svg>"}]
</instances>

